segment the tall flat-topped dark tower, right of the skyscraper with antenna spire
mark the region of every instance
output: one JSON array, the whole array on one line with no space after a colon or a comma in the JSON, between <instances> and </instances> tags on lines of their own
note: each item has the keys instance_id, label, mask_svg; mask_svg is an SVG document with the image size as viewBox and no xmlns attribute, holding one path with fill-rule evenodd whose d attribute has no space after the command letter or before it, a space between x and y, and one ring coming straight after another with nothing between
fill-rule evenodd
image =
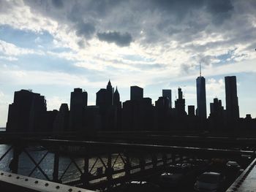
<instances>
[{"instance_id":1,"label":"tall flat-topped dark tower, right of the skyscraper with antenna spire","mask_svg":"<svg viewBox=\"0 0 256 192\"><path fill-rule=\"evenodd\" d=\"M239 118L236 76L225 77L226 113L228 119Z\"/></svg>"}]
</instances>

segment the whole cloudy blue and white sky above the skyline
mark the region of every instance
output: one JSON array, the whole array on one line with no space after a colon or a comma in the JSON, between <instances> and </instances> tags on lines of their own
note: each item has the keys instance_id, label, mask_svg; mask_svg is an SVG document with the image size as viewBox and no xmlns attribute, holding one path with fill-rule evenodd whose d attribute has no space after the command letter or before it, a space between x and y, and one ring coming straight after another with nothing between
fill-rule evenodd
<instances>
[{"instance_id":1,"label":"whole cloudy blue and white sky above the skyline","mask_svg":"<svg viewBox=\"0 0 256 192\"><path fill-rule=\"evenodd\" d=\"M207 111L225 107L225 76L236 75L240 116L256 117L255 0L0 1L0 127L14 91L31 89L48 110L68 103L74 88L96 92L108 80L121 101L129 87L154 103L181 87L196 106L199 64Z\"/></svg>"}]
</instances>

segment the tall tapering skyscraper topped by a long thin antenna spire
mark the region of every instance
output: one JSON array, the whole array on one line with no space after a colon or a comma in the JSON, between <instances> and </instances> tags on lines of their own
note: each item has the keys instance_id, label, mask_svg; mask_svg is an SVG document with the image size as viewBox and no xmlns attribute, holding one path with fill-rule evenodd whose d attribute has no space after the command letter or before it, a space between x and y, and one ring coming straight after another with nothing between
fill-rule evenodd
<instances>
[{"instance_id":1,"label":"tall tapering skyscraper topped by a long thin antenna spire","mask_svg":"<svg viewBox=\"0 0 256 192\"><path fill-rule=\"evenodd\" d=\"M200 118L206 118L206 79L201 74L197 77L197 110L196 114Z\"/></svg>"}]
</instances>

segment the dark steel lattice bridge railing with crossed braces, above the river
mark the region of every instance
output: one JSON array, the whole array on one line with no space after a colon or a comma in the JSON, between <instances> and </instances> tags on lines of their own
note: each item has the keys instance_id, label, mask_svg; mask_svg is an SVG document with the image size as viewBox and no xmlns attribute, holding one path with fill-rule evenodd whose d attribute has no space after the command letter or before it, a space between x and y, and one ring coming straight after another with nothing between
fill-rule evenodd
<instances>
[{"instance_id":1,"label":"dark steel lattice bridge railing with crossed braces, above the river","mask_svg":"<svg viewBox=\"0 0 256 192\"><path fill-rule=\"evenodd\" d=\"M0 164L9 155L12 173L20 173L22 158L30 161L27 176L42 174L44 180L83 188L109 188L128 180L162 172L166 166L184 158L241 158L255 156L254 151L227 150L202 147L145 145L124 142L92 142L60 139L4 139L6 150L0 155ZM36 147L36 148L35 148ZM32 148L32 150L31 150ZM34 150L36 149L36 150ZM34 151L39 150L39 157ZM10 153L12 155L10 155ZM47 166L42 162L48 159ZM50 160L49 160L50 159ZM61 164L65 159L66 164ZM70 171L71 169L71 171ZM49 171L50 170L50 171ZM64 177L67 173L74 177Z\"/></svg>"}]
</instances>

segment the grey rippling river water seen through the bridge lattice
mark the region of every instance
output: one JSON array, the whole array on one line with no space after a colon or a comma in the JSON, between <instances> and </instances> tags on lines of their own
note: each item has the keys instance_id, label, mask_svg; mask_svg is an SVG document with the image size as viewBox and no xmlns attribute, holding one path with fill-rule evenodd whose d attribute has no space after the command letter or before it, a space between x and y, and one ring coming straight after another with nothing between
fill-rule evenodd
<instances>
[{"instance_id":1,"label":"grey rippling river water seen through the bridge lattice","mask_svg":"<svg viewBox=\"0 0 256 192\"><path fill-rule=\"evenodd\" d=\"M10 148L10 145L0 145L0 157L3 155L8 149ZM34 161L37 163L42 159L42 157L47 153L47 150L38 150L39 148L35 147L29 147L26 148L26 150L29 152L29 154L34 158ZM12 158L12 150L10 150L9 153L0 161L0 170L5 172L10 172L9 164L10 159ZM102 161L107 164L108 158L107 156L101 156ZM116 159L117 158L117 159ZM103 172L105 172L104 165L101 161L97 161L97 163L94 165L94 162L97 160L97 157L90 158L89 159L89 170L91 170L91 174L94 174L97 172L97 168L102 167ZM49 177L50 180L53 179L53 161L54 161L54 154L48 153L45 158L42 160L42 162L39 164L43 172ZM70 164L71 159L65 155L61 155L59 159L59 179L61 178L62 182L67 182L70 180L79 180L80 174L83 172L83 166L84 166L84 160L83 158L74 158L75 163L78 165L79 169L75 166L75 164ZM114 164L115 162L115 164ZM137 165L138 159L134 158L131 161L132 166ZM67 169L67 172L62 176L67 166L70 164L69 168ZM113 168L115 170L121 169L124 167L124 162L122 159L118 156L118 154L112 155L112 165L114 164ZM92 168L92 166L94 166ZM31 171L34 169L35 165L33 161L29 158L29 156L22 152L19 156L19 164L18 164L18 174L29 176ZM92 168L92 169L91 169ZM136 172L138 170L133 170L133 172ZM124 173L121 174L115 174L113 177L120 177L123 176ZM47 180L44 174L39 171L39 169L35 169L34 172L30 175L30 177L36 177L42 180Z\"/></svg>"}]
</instances>

